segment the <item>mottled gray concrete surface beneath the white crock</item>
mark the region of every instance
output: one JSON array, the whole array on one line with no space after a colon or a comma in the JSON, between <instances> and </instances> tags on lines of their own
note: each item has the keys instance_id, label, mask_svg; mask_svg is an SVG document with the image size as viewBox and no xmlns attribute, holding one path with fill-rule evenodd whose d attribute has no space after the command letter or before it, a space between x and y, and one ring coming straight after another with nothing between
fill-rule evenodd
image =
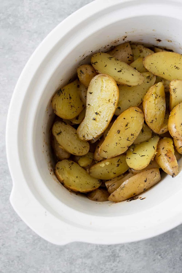
<instances>
[{"instance_id":1,"label":"mottled gray concrete surface beneath the white crock","mask_svg":"<svg viewBox=\"0 0 182 273\"><path fill-rule=\"evenodd\" d=\"M52 245L30 230L9 203L12 180L5 154L5 122L16 81L42 39L91 0L0 1L0 272L182 272L182 226L130 244Z\"/></svg>"}]
</instances>

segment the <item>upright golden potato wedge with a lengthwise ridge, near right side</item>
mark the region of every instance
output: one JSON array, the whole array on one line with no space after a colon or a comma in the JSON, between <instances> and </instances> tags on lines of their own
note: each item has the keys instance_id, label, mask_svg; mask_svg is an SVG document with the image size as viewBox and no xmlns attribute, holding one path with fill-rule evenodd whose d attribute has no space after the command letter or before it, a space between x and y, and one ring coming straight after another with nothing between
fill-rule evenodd
<instances>
[{"instance_id":1,"label":"upright golden potato wedge with a lengthwise ridge, near right side","mask_svg":"<svg viewBox=\"0 0 182 273\"><path fill-rule=\"evenodd\" d=\"M149 88L143 98L143 113L147 125L155 133L160 132L166 111L165 92L162 82Z\"/></svg>"}]
</instances>

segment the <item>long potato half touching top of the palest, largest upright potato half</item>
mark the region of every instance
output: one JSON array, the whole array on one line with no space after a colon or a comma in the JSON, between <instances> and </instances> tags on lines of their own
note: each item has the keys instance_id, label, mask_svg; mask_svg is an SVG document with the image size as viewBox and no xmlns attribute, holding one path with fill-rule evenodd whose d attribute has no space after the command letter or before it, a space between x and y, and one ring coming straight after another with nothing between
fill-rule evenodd
<instances>
[{"instance_id":1,"label":"long potato half touching top of the palest, largest upright potato half","mask_svg":"<svg viewBox=\"0 0 182 273\"><path fill-rule=\"evenodd\" d=\"M118 84L133 86L143 82L143 76L138 71L108 53L94 54L91 64L98 73L110 75Z\"/></svg>"}]
</instances>

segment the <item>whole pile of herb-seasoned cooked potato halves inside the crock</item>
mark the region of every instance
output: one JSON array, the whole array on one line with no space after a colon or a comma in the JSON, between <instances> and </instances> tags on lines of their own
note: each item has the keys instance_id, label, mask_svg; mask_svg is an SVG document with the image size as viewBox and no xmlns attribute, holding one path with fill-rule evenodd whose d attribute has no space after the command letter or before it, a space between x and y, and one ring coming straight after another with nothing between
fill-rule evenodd
<instances>
[{"instance_id":1,"label":"whole pile of herb-seasoned cooked potato halves inside the crock","mask_svg":"<svg viewBox=\"0 0 182 273\"><path fill-rule=\"evenodd\" d=\"M55 174L93 201L124 201L178 174L182 55L123 43L77 68L52 98Z\"/></svg>"}]
</instances>

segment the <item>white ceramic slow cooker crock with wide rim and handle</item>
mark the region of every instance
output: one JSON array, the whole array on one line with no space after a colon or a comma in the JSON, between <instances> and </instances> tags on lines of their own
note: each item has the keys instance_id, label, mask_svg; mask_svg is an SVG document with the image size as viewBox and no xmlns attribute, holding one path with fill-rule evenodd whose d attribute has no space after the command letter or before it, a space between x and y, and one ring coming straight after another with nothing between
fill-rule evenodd
<instances>
[{"instance_id":1,"label":"white ceramic slow cooker crock with wide rim and handle","mask_svg":"<svg viewBox=\"0 0 182 273\"><path fill-rule=\"evenodd\" d=\"M93 202L57 183L49 147L51 97L76 74L83 58L87 63L92 52L130 40L182 53L181 14L177 0L97 0L52 30L26 64L7 120L10 201L45 240L117 244L156 236L182 222L181 172L164 176L142 193L143 200Z\"/></svg>"}]
</instances>

